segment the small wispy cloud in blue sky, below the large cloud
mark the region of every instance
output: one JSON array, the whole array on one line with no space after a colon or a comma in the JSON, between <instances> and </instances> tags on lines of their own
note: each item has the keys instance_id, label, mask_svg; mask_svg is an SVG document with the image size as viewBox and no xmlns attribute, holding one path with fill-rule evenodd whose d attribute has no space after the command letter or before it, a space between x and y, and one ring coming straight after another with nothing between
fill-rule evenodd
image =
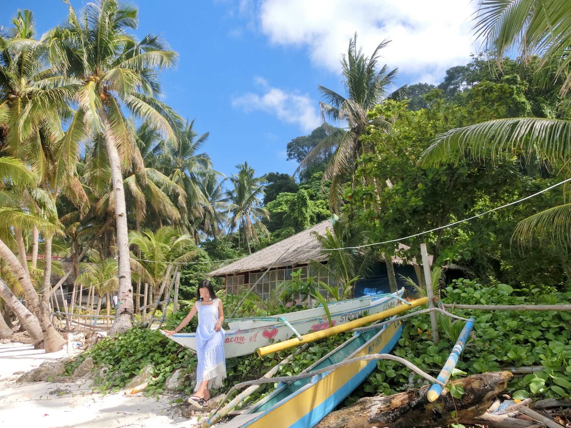
<instances>
[{"instance_id":1,"label":"small wispy cloud in blue sky, below the large cloud","mask_svg":"<svg viewBox=\"0 0 571 428\"><path fill-rule=\"evenodd\" d=\"M262 87L263 94L247 92L232 99L232 107L242 108L246 113L255 110L264 111L284 122L297 124L304 131L311 131L319 126L317 102L307 94L271 87L263 78L256 78L255 81Z\"/></svg>"}]
</instances>

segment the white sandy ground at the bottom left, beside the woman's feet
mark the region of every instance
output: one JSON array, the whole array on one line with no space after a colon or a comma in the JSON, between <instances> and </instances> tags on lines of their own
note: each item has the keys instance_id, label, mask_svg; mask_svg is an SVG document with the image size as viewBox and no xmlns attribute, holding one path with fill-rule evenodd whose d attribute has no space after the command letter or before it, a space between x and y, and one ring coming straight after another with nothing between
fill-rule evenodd
<instances>
[{"instance_id":1,"label":"white sandy ground at the bottom left, beside the woman's feet","mask_svg":"<svg viewBox=\"0 0 571 428\"><path fill-rule=\"evenodd\" d=\"M174 419L163 396L160 401L142 395L93 393L90 383L35 382L19 385L14 372L31 370L46 360L66 355L65 349L45 354L31 345L0 344L0 426L15 428L190 428L198 422Z\"/></svg>"}]
</instances>

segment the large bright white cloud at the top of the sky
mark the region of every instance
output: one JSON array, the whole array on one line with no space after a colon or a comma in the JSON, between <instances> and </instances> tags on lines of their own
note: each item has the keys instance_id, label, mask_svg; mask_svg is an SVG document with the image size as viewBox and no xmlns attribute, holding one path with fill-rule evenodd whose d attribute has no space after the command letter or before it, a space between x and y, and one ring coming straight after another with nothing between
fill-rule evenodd
<instances>
[{"instance_id":1,"label":"large bright white cloud at the top of the sky","mask_svg":"<svg viewBox=\"0 0 571 428\"><path fill-rule=\"evenodd\" d=\"M476 6L469 0L260 0L258 13L272 43L305 46L313 63L333 72L340 72L340 55L356 31L365 54L392 40L382 51L390 67L436 83L477 51L470 33Z\"/></svg>"}]
</instances>

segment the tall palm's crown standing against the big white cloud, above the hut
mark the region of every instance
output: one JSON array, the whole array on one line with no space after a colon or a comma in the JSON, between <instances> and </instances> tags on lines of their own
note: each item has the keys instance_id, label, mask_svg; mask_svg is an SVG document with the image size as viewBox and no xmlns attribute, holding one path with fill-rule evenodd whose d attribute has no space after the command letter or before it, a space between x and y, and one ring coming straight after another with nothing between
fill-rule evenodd
<instances>
[{"instance_id":1,"label":"tall palm's crown standing against the big white cloud, above the hut","mask_svg":"<svg viewBox=\"0 0 571 428\"><path fill-rule=\"evenodd\" d=\"M327 116L335 122L346 124L347 127L335 128L309 152L296 169L297 173L309 163L321 159L324 152L334 149L323 175L324 180L331 180L329 205L333 209L339 208L339 197L344 184L351 181L355 171L355 161L365 151L359 136L363 135L365 128L372 124L367 117L367 109L379 104L385 98L400 96L405 89L403 86L395 92L388 92L397 75L397 69L388 71L388 67L384 65L378 70L380 50L387 46L389 41L380 43L371 58L365 56L361 49L357 51L356 43L357 33L349 40L347 55L341 57L343 86L347 95L343 96L331 89L318 86L325 100L319 103L324 123ZM375 124L387 126L383 120L377 120Z\"/></svg>"}]
</instances>

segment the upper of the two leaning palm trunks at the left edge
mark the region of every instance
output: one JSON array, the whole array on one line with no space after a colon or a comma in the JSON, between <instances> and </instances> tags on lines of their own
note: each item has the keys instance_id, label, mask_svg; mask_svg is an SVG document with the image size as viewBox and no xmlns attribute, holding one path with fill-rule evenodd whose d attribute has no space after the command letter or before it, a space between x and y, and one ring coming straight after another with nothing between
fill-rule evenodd
<instances>
[{"instance_id":1,"label":"upper of the two leaning palm trunks at the left edge","mask_svg":"<svg viewBox=\"0 0 571 428\"><path fill-rule=\"evenodd\" d=\"M22 264L19 263L14 253L11 252L10 248L8 248L6 244L1 240L0 257L6 261L12 273L14 273L14 275L18 278L18 282L26 294L30 308L32 308L33 313L38 318L39 325L42 328L43 346L46 350L46 353L57 352L61 350L66 341L55 330L53 324L51 324L50 316L47 313L45 306L43 306L42 302L39 300L38 293L30 281L30 276L24 270Z\"/></svg>"}]
</instances>

